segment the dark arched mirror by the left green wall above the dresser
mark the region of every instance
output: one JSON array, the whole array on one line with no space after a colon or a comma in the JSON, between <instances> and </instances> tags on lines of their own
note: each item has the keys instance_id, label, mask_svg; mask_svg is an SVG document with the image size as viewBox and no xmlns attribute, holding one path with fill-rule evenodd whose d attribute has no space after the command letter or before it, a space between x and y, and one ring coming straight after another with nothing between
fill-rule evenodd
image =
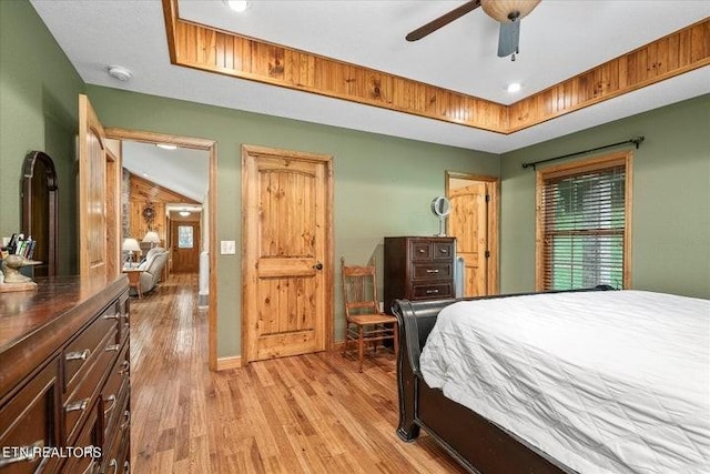
<instances>
[{"instance_id":1,"label":"dark arched mirror by the left green wall above the dresser","mask_svg":"<svg viewBox=\"0 0 710 474\"><path fill-rule=\"evenodd\" d=\"M36 228L33 216L38 212L44 212L44 203L38 202L37 195L37 181L34 181L34 174L38 172L38 163L43 165L44 180L41 181L42 185L45 185L47 193L47 234L39 235ZM43 244L47 245L47 261L43 264L47 268L47 275L57 275L57 238L58 238L58 193L59 186L57 183L57 170L52 159L42 151L31 151L24 158L24 165L22 167L22 193L20 200L22 201L22 232L26 235L32 235L36 240L47 239ZM43 193L42 193L43 194ZM44 260L44 255L42 256Z\"/></svg>"}]
</instances>

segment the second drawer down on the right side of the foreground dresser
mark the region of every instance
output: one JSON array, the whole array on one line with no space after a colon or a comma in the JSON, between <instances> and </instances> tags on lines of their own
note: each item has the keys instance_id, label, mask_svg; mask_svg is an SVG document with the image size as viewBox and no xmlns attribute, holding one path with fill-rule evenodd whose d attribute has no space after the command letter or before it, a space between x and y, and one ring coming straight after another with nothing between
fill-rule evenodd
<instances>
[{"instance_id":1,"label":"second drawer down on the right side of the foreground dresser","mask_svg":"<svg viewBox=\"0 0 710 474\"><path fill-rule=\"evenodd\" d=\"M115 326L105 334L98 345L95 355L89 361L90 367L82 370L83 375L77 383L77 389L64 401L64 428L69 445L77 433L77 428L85 418L88 410L98 400L99 389L109 372L109 367L116 360L119 345L115 343Z\"/></svg>"}]
</instances>

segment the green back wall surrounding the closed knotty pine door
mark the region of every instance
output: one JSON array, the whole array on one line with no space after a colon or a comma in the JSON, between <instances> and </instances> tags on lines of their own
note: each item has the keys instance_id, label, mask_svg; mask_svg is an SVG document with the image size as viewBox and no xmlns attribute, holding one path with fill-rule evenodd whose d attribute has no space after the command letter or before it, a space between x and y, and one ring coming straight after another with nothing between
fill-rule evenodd
<instances>
[{"instance_id":1,"label":"green back wall surrounding the closed knotty pine door","mask_svg":"<svg viewBox=\"0 0 710 474\"><path fill-rule=\"evenodd\" d=\"M385 235L433 235L438 221L429 202L444 193L446 170L498 175L498 155L324 127L295 120L88 87L105 127L215 140L219 149L217 240L241 242L242 144L258 144L334 157L335 273L339 258L382 266ZM220 356L241 351L241 260L217 262ZM339 280L335 285L335 339L343 334Z\"/></svg>"}]
</instances>

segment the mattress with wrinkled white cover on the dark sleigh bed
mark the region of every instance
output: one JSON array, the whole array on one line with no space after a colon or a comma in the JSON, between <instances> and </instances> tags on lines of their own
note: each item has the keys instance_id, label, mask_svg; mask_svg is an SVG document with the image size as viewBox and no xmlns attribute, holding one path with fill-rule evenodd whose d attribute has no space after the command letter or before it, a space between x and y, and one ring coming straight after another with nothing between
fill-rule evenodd
<instances>
[{"instance_id":1,"label":"mattress with wrinkled white cover on the dark sleigh bed","mask_svg":"<svg viewBox=\"0 0 710 474\"><path fill-rule=\"evenodd\" d=\"M710 301L642 291L454 303L430 387L580 473L710 473Z\"/></svg>"}]
</instances>

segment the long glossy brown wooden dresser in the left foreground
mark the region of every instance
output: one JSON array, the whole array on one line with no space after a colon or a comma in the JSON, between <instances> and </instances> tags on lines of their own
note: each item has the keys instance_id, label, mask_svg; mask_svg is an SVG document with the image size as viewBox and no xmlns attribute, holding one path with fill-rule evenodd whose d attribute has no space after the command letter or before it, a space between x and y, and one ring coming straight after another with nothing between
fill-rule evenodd
<instances>
[{"instance_id":1,"label":"long glossy brown wooden dresser in the left foreground","mask_svg":"<svg viewBox=\"0 0 710 474\"><path fill-rule=\"evenodd\" d=\"M37 282L0 294L0 473L128 473L128 279Z\"/></svg>"}]
</instances>

